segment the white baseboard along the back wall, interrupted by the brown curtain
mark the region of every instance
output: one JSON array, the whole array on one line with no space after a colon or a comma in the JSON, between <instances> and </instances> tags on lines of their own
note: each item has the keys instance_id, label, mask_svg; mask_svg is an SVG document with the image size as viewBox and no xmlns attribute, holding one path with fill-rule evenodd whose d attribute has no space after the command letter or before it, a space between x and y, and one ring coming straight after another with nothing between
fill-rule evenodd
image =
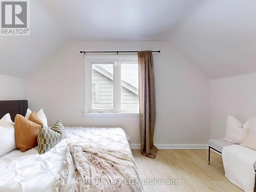
<instances>
[{"instance_id":1,"label":"white baseboard along the back wall, interrupted by the brown curtain","mask_svg":"<svg viewBox=\"0 0 256 192\"><path fill-rule=\"evenodd\" d=\"M130 144L132 150L140 148L140 144ZM155 144L159 150L202 150L207 149L208 144Z\"/></svg>"}]
</instances>

